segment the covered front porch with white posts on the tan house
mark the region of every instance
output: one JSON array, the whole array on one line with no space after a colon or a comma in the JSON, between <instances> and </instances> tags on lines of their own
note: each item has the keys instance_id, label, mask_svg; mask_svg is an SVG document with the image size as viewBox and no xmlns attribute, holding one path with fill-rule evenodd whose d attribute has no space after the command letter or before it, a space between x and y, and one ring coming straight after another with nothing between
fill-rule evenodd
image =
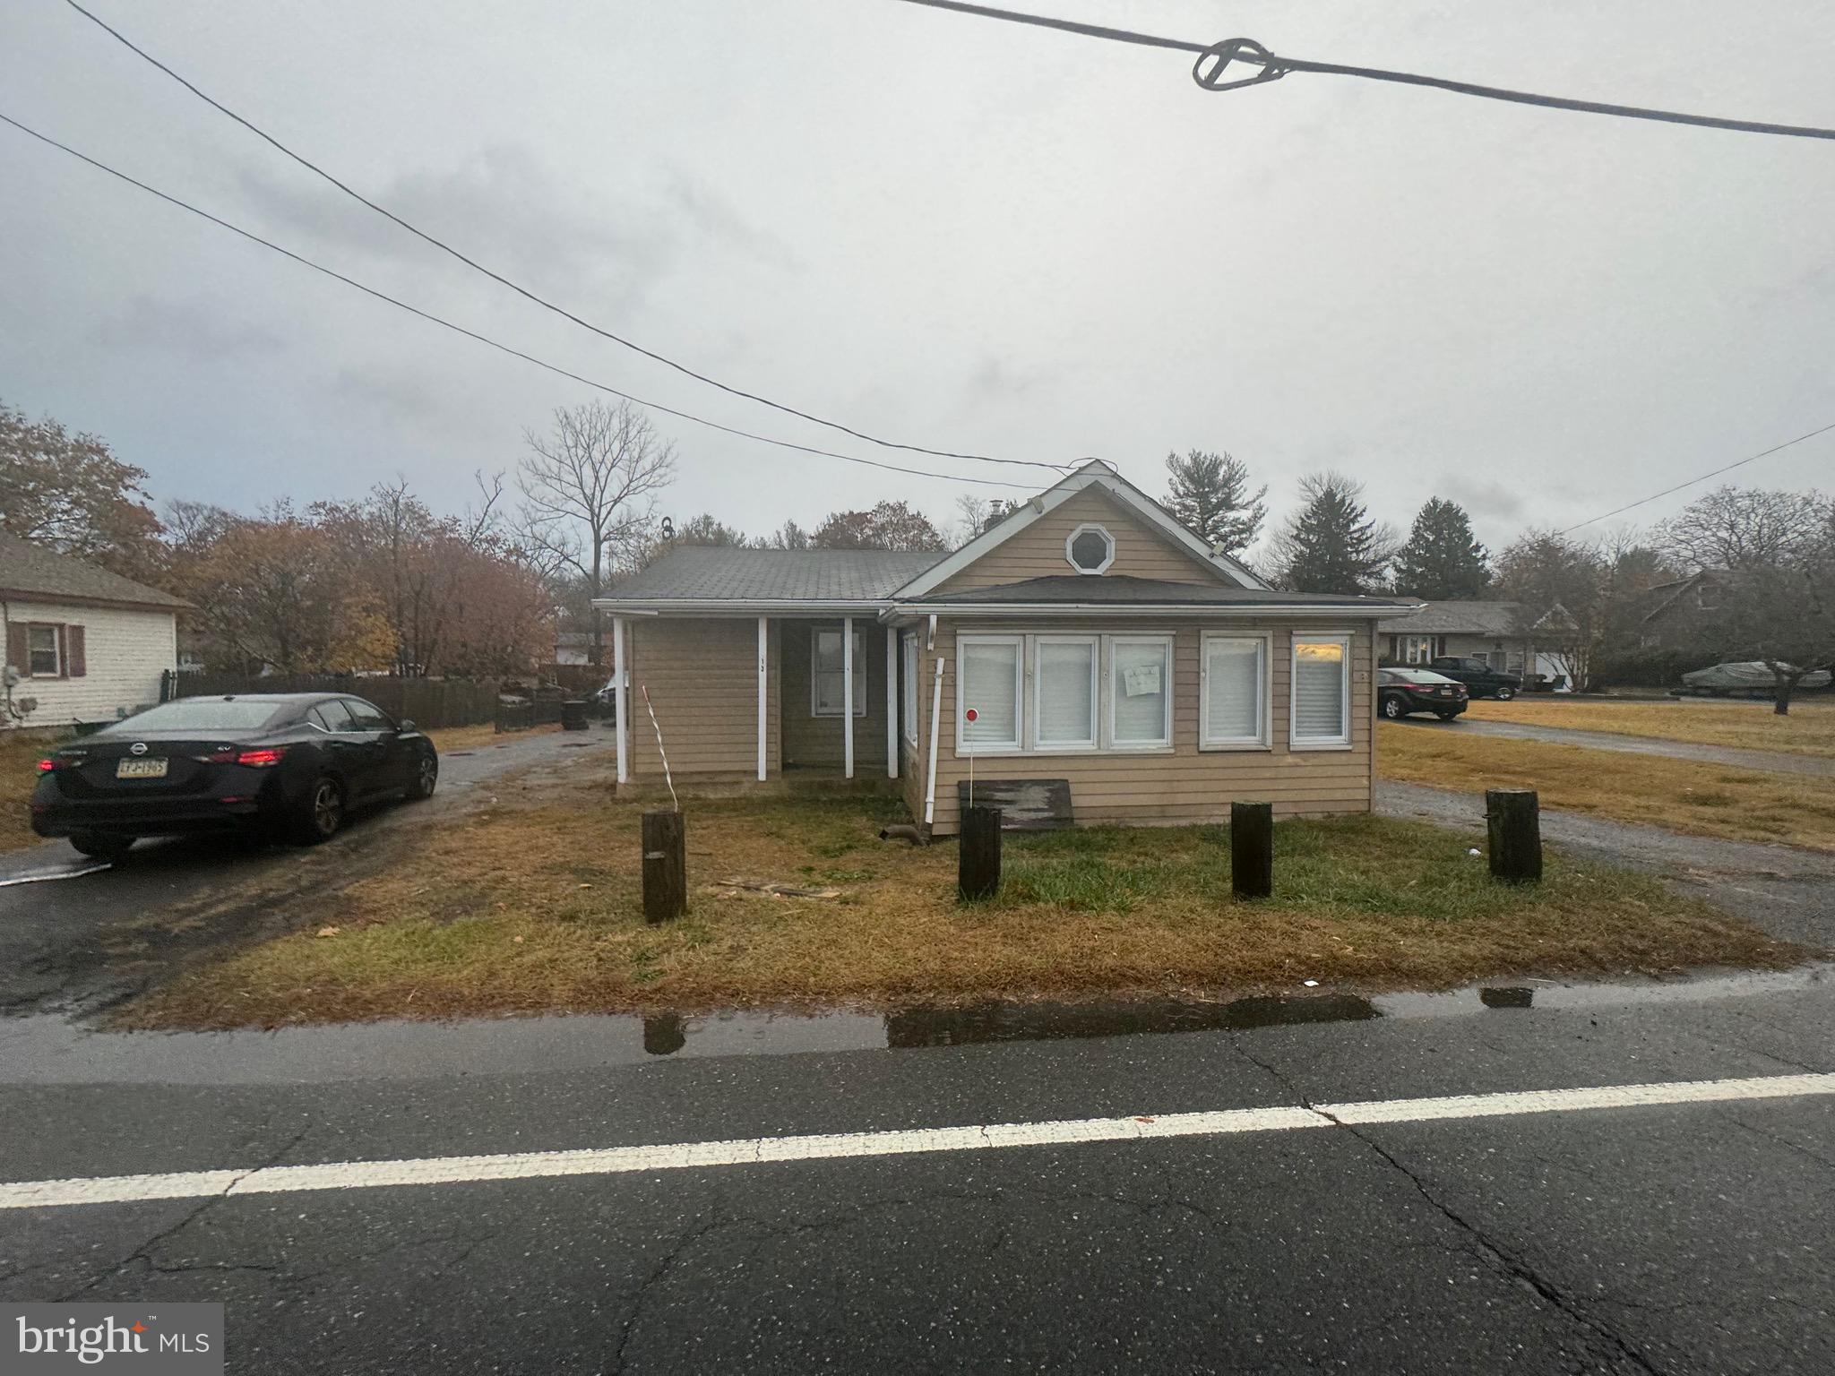
<instances>
[{"instance_id":1,"label":"covered front porch with white posts on the tan house","mask_svg":"<svg viewBox=\"0 0 1835 1376\"><path fill-rule=\"evenodd\" d=\"M862 615L615 615L618 783L899 778L897 637ZM657 736L661 732L661 749Z\"/></svg>"}]
</instances>

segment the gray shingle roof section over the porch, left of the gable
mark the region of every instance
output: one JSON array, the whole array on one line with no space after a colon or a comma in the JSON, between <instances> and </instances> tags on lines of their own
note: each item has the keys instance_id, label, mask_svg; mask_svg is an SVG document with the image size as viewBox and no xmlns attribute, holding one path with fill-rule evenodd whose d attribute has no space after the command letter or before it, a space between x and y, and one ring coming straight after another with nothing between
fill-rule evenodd
<instances>
[{"instance_id":1,"label":"gray shingle roof section over the porch, left of the gable","mask_svg":"<svg viewBox=\"0 0 1835 1376\"><path fill-rule=\"evenodd\" d=\"M690 545L615 580L615 602L879 602L943 554Z\"/></svg>"}]
</instances>

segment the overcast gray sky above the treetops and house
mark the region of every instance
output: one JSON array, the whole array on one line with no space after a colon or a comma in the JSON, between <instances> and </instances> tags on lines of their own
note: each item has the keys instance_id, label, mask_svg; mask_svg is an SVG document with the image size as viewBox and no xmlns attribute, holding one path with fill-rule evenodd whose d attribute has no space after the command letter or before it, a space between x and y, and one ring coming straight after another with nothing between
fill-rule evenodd
<instances>
[{"instance_id":1,"label":"overcast gray sky above the treetops and house","mask_svg":"<svg viewBox=\"0 0 1835 1376\"><path fill-rule=\"evenodd\" d=\"M1294 75L892 0L92 0L376 200L578 314L888 438L1332 464L1406 525L1567 525L1835 420L1835 145ZM1835 123L1835 6L1037 0L1563 95ZM1736 22L1734 22L1736 20ZM343 198L59 0L0 110L585 376L910 462L558 321ZM459 506L584 387L0 128L0 398L231 506L404 473ZM751 532L960 492L659 416L664 508ZM844 440L844 442L837 442ZM918 461L978 477L982 464ZM1828 486L1835 433L1738 473ZM1690 494L1653 503L1653 519Z\"/></svg>"}]
</instances>

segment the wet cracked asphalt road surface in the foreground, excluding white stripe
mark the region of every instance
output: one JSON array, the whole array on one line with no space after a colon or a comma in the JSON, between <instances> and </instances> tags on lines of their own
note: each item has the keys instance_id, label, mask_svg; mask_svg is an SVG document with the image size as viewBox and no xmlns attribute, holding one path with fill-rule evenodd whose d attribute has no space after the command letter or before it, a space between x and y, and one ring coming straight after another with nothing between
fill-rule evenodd
<instances>
[{"instance_id":1,"label":"wet cracked asphalt road surface in the foreground, excluding white stripe","mask_svg":"<svg viewBox=\"0 0 1835 1376\"><path fill-rule=\"evenodd\" d=\"M1674 991L1672 991L1674 993ZM591 1064L22 1082L0 1176L1835 1070L1835 989ZM270 1046L290 1033L264 1038ZM349 1051L349 1048L347 1048ZM308 1057L310 1059L310 1057ZM284 1060L284 1059L283 1059ZM1835 1097L0 1213L0 1297L222 1301L253 1372L1826 1372Z\"/></svg>"}]
</instances>

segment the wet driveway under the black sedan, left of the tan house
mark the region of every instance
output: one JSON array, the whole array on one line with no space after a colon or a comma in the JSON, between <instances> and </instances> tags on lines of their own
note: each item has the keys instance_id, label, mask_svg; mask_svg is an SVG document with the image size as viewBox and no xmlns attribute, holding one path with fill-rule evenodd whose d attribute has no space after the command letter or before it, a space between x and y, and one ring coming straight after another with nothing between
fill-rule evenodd
<instances>
[{"instance_id":1,"label":"wet driveway under the black sedan, left of the tan house","mask_svg":"<svg viewBox=\"0 0 1835 1376\"><path fill-rule=\"evenodd\" d=\"M440 756L426 804L352 818L325 846L141 842L99 866L53 840L0 857L0 1015L88 1013L149 987L184 960L290 930L288 899L385 866L417 831L492 782L532 787L611 749L604 730L506 736ZM512 780L510 776L517 776ZM18 882L24 881L24 882Z\"/></svg>"}]
</instances>

